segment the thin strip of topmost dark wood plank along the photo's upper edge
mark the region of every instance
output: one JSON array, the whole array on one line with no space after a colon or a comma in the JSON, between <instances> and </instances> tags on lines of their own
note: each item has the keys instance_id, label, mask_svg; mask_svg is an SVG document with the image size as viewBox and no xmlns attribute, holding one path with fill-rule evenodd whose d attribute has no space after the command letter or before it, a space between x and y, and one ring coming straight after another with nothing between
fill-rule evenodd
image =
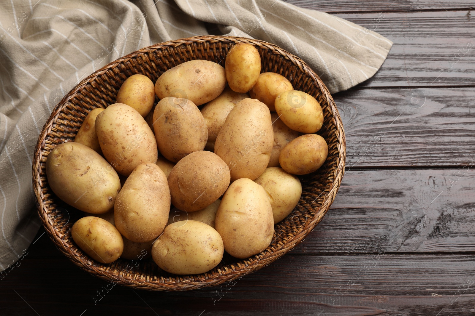
<instances>
[{"instance_id":1,"label":"thin strip of topmost dark wood plank along the photo's upper edge","mask_svg":"<svg viewBox=\"0 0 475 316\"><path fill-rule=\"evenodd\" d=\"M390 12L417 10L460 10L475 7L474 0L284 0L298 7L323 12Z\"/></svg>"}]
</instances>

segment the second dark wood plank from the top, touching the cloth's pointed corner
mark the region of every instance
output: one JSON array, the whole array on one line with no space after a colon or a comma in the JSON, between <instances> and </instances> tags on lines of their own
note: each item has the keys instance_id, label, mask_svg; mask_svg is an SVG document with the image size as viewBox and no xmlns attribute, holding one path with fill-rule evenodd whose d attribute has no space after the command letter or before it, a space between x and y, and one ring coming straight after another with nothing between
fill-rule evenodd
<instances>
[{"instance_id":1,"label":"second dark wood plank from the top, touching the cloth's pointed corner","mask_svg":"<svg viewBox=\"0 0 475 316\"><path fill-rule=\"evenodd\" d=\"M380 70L361 87L475 85L475 19L467 11L336 16L394 42Z\"/></svg>"}]
</instances>

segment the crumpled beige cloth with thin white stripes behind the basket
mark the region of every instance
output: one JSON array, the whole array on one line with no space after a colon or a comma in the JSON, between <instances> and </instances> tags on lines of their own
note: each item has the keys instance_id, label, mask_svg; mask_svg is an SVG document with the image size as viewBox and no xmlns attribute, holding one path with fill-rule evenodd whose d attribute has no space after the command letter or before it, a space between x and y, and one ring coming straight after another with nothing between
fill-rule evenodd
<instances>
[{"instance_id":1,"label":"crumpled beige cloth with thin white stripes behind the basket","mask_svg":"<svg viewBox=\"0 0 475 316\"><path fill-rule=\"evenodd\" d=\"M208 34L205 22L221 34L263 39L300 56L331 92L371 77L392 45L351 22L280 0L1 1L0 271L21 257L40 226L31 165L56 104L120 56Z\"/></svg>"}]
</instances>

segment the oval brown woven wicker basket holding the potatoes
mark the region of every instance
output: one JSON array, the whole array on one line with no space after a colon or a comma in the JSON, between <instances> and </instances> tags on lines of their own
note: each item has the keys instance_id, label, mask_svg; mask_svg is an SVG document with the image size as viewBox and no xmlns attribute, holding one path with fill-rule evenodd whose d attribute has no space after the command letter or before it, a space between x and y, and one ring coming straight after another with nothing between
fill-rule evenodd
<instances>
[{"instance_id":1,"label":"oval brown woven wicker basket holding the potatoes","mask_svg":"<svg viewBox=\"0 0 475 316\"><path fill-rule=\"evenodd\" d=\"M48 186L45 162L57 144L71 142L85 116L94 108L115 103L125 79L141 73L155 82L158 76L180 63L205 59L220 63L237 43L255 45L261 55L262 72L277 72L290 80L295 90L314 96L322 105L324 124L319 134L329 148L325 164L301 176L302 197L293 212L275 225L269 247L251 258L241 260L225 254L223 261L204 274L177 276L161 271L149 259L130 262L119 259L110 264L95 262L71 238L71 227L82 212L66 205ZM81 269L93 275L136 289L190 290L235 280L257 271L292 250L323 219L338 191L344 172L345 136L341 118L332 96L320 78L300 58L276 45L231 36L196 36L145 47L109 63L76 85L54 109L38 137L33 163L33 187L38 215L47 235L57 248Z\"/></svg>"}]
</instances>

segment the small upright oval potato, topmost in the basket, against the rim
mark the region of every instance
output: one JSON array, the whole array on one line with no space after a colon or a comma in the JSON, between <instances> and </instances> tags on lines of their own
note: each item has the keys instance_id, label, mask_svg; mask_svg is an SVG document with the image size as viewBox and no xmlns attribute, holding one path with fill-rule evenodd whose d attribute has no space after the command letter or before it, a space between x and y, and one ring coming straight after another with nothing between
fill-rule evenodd
<instances>
[{"instance_id":1,"label":"small upright oval potato, topmost in the basket, against the rim","mask_svg":"<svg viewBox=\"0 0 475 316\"><path fill-rule=\"evenodd\" d=\"M251 44L236 44L226 55L225 70L229 88L246 93L254 87L259 78L261 56Z\"/></svg>"}]
</instances>

